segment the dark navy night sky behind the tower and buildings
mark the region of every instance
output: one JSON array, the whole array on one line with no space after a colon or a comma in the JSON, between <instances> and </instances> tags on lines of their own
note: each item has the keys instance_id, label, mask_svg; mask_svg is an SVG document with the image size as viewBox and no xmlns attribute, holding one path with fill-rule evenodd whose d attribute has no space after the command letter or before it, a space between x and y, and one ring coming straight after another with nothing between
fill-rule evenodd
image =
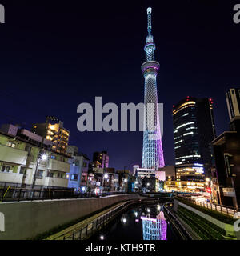
<instances>
[{"instance_id":1,"label":"dark navy night sky behind the tower and buildings","mask_svg":"<svg viewBox=\"0 0 240 256\"><path fill-rule=\"evenodd\" d=\"M240 84L240 1L38 1L0 0L0 122L30 128L56 115L70 144L92 159L108 150L110 166L142 162L142 133L80 133L77 106L143 102L140 70L146 42L146 7L160 62L158 102L164 103L163 148L174 164L172 106L186 96L214 98L217 133L228 129L226 90Z\"/></svg>"}]
</instances>

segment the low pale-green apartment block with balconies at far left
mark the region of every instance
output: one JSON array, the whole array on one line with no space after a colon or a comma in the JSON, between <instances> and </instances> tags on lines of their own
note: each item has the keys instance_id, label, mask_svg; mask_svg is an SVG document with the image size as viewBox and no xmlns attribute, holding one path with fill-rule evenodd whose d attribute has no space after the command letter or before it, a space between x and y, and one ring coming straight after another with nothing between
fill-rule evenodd
<instances>
[{"instance_id":1,"label":"low pale-green apartment block with balconies at far left","mask_svg":"<svg viewBox=\"0 0 240 256\"><path fill-rule=\"evenodd\" d=\"M10 127L8 133L7 126ZM0 184L22 188L67 188L68 156L50 150L52 145L48 140L44 140L42 147L42 138L37 134L13 127L4 125L4 131L0 131ZM46 158L42 158L42 154Z\"/></svg>"}]
</instances>

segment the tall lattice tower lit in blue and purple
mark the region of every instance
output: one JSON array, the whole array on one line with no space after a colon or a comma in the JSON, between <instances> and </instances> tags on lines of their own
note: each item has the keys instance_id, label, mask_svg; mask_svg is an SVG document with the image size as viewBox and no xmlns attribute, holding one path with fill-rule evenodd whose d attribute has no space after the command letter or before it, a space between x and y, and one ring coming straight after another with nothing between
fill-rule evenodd
<instances>
[{"instance_id":1,"label":"tall lattice tower lit in blue and purple","mask_svg":"<svg viewBox=\"0 0 240 256\"><path fill-rule=\"evenodd\" d=\"M147 8L148 18L148 35L146 37L146 62L141 66L142 74L145 78L144 104L145 104L145 130L143 132L142 147L142 168L158 170L164 166L164 158L162 152L162 138L160 131L160 122L158 115L158 90L157 90L157 74L160 64L154 61L154 37L151 35L152 9Z\"/></svg>"}]
</instances>

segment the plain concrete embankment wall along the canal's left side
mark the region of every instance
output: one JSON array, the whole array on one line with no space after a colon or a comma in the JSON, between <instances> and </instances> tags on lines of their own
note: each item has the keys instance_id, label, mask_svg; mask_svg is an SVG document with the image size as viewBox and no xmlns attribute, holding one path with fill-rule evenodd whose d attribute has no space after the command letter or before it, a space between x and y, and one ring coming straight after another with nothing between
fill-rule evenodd
<instances>
[{"instance_id":1,"label":"plain concrete embankment wall along the canal's left side","mask_svg":"<svg viewBox=\"0 0 240 256\"><path fill-rule=\"evenodd\" d=\"M0 203L0 213L4 214L5 222L5 231L0 230L0 240L34 238L106 206L138 198L138 194L121 194L105 198Z\"/></svg>"}]
</instances>

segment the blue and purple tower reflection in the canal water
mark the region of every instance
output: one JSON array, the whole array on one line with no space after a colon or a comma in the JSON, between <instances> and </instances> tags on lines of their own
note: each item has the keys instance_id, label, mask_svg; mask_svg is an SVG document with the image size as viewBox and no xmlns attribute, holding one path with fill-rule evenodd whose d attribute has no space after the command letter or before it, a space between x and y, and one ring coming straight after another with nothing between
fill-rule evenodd
<instances>
[{"instance_id":1,"label":"blue and purple tower reflection in the canal water","mask_svg":"<svg viewBox=\"0 0 240 256\"><path fill-rule=\"evenodd\" d=\"M143 240L166 240L167 223L162 209L156 218L141 216Z\"/></svg>"}]
</instances>

